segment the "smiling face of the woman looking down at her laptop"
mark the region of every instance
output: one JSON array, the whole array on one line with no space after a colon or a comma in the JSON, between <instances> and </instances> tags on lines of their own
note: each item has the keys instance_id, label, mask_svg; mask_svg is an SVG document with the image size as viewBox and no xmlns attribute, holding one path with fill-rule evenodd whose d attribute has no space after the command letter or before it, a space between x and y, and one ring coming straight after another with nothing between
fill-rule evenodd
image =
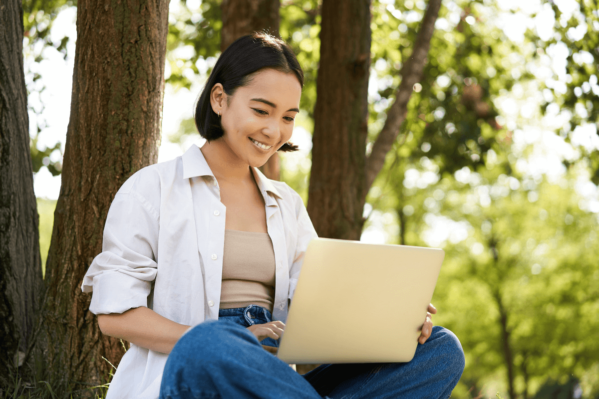
<instances>
[{"instance_id":1,"label":"smiling face of the woman looking down at her laptop","mask_svg":"<svg viewBox=\"0 0 599 399\"><path fill-rule=\"evenodd\" d=\"M212 106L220 112L225 132L221 139L231 156L245 165L264 165L291 138L300 97L295 75L274 69L259 71L232 96L222 93Z\"/></svg>"}]
</instances>

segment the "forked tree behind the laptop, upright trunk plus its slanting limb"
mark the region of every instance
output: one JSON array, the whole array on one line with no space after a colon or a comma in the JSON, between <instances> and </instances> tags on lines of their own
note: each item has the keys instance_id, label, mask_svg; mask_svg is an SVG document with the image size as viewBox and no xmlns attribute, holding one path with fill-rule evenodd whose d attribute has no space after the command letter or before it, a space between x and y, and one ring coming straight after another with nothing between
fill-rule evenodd
<instances>
[{"instance_id":1,"label":"forked tree behind the laptop, upright trunk plus its slanting limb","mask_svg":"<svg viewBox=\"0 0 599 399\"><path fill-rule=\"evenodd\" d=\"M441 0L430 0L385 126L366 156L370 1L322 2L308 214L322 237L358 240L366 195L397 139L426 63Z\"/></svg>"}]
</instances>

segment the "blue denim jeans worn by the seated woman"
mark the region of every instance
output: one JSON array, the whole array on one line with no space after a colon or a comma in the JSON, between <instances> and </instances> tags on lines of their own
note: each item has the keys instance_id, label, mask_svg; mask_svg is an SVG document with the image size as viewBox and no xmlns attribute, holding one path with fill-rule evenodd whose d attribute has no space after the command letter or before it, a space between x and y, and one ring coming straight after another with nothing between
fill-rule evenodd
<instances>
[{"instance_id":1,"label":"blue denim jeans worn by the seated woman","mask_svg":"<svg viewBox=\"0 0 599 399\"><path fill-rule=\"evenodd\" d=\"M219 321L203 322L177 342L162 375L161 399L446 399L464 370L459 340L435 326L408 363L323 364L302 376L246 329L250 321L270 321L268 310L221 312L222 319L219 312Z\"/></svg>"}]
</instances>

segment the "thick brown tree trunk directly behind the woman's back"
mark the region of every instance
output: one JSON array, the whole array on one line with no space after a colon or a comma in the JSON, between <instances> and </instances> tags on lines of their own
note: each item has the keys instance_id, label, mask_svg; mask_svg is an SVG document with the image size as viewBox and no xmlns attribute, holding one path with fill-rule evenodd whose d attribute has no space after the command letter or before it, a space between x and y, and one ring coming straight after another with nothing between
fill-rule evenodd
<instances>
[{"instance_id":1,"label":"thick brown tree trunk directly behind the woman's back","mask_svg":"<svg viewBox=\"0 0 599 399\"><path fill-rule=\"evenodd\" d=\"M108 381L123 346L100 333L81 293L102 249L108 208L122 183L156 162L168 0L79 0L71 117L46 266L44 349L53 386ZM83 383L84 386L77 386ZM90 391L87 391L90 394Z\"/></svg>"}]
</instances>

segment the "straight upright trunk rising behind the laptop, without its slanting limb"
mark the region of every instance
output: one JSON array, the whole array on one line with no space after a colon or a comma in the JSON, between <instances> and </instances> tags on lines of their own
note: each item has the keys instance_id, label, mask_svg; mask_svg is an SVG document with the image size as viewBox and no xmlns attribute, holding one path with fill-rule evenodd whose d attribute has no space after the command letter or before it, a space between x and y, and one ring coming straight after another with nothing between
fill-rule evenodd
<instances>
[{"instance_id":1,"label":"straight upright trunk rising behind the laptop, without its slanting limb","mask_svg":"<svg viewBox=\"0 0 599 399\"><path fill-rule=\"evenodd\" d=\"M308 214L321 237L357 240L364 220L370 0L323 0Z\"/></svg>"}]
</instances>

